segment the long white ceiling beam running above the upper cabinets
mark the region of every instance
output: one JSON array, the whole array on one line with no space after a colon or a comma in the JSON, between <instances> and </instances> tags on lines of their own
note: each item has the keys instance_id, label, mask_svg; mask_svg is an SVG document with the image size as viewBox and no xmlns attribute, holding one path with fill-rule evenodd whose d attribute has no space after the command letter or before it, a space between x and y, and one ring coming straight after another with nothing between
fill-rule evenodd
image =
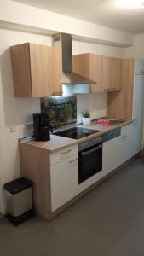
<instances>
[{"instance_id":1,"label":"long white ceiling beam running above the upper cabinets","mask_svg":"<svg viewBox=\"0 0 144 256\"><path fill-rule=\"evenodd\" d=\"M66 15L59 15L44 9L37 9L23 3L4 0L1 3L0 20L17 24L18 26L32 26L34 29L50 30L55 32L67 32L87 40L95 40L99 43L133 45L134 36L98 26L84 20L78 20Z\"/></svg>"}]
</instances>

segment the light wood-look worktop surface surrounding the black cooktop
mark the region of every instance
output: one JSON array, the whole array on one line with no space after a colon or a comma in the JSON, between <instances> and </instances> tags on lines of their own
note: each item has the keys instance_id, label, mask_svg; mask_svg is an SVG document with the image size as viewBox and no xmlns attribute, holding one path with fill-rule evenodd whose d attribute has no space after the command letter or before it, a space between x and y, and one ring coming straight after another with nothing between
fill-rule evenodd
<instances>
[{"instance_id":1,"label":"light wood-look worktop surface surrounding the black cooktop","mask_svg":"<svg viewBox=\"0 0 144 256\"><path fill-rule=\"evenodd\" d=\"M57 135L50 135L50 141L48 142L37 142L34 140L26 140L22 141L20 143L26 143L30 147L37 147L37 148L43 148L49 151L49 153L53 153L57 150L72 146L74 144L82 143L84 141L89 140L90 138L93 137L99 137L102 134L106 133L107 131L112 131L117 128L120 128L124 125L129 125L132 122L132 120L125 121L124 123L121 123L119 125L95 125L94 122L91 122L90 125L77 125L78 127L84 127L92 130L99 130L99 132L89 135L88 137L83 137L81 139L72 139L72 138L67 138L67 137L60 137Z\"/></svg>"}]
</instances>

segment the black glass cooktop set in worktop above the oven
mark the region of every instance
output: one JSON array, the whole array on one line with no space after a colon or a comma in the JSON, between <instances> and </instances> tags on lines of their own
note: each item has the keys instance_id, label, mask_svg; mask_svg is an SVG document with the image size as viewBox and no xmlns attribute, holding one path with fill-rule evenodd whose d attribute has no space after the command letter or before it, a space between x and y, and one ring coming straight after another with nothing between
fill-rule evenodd
<instances>
[{"instance_id":1,"label":"black glass cooktop set in worktop above the oven","mask_svg":"<svg viewBox=\"0 0 144 256\"><path fill-rule=\"evenodd\" d=\"M87 128L81 128L81 127L73 127L71 129L66 129L63 131L56 131L55 135L61 136L61 137L69 137L73 139L80 139L82 137L87 137L91 134L95 134L99 132L98 130L91 130Z\"/></svg>"}]
</instances>

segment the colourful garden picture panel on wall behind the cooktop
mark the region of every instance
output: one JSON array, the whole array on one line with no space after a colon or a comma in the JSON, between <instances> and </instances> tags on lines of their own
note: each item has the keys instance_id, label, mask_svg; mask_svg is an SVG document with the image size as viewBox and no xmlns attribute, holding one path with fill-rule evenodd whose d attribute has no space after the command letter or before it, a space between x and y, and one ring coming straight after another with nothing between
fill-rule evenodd
<instances>
[{"instance_id":1,"label":"colourful garden picture panel on wall behind the cooktop","mask_svg":"<svg viewBox=\"0 0 144 256\"><path fill-rule=\"evenodd\" d=\"M41 111L49 114L49 122L53 128L76 123L76 96L51 96L41 99Z\"/></svg>"}]
</instances>

